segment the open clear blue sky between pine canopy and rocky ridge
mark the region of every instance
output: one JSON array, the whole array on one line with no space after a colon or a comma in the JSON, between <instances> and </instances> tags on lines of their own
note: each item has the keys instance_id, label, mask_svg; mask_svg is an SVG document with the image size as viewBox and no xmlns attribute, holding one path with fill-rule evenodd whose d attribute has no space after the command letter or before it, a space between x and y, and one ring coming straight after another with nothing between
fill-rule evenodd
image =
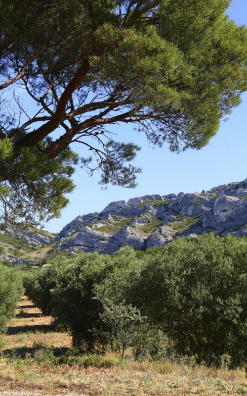
<instances>
[{"instance_id":1,"label":"open clear blue sky between pine canopy and rocky ridge","mask_svg":"<svg viewBox=\"0 0 247 396\"><path fill-rule=\"evenodd\" d=\"M247 25L247 0L233 0L228 13L237 24ZM221 122L217 135L201 150L189 149L175 154L165 146L152 148L145 136L133 131L131 126L115 127L120 141L132 141L142 147L134 162L142 167L142 173L137 176L138 186L135 189L109 186L107 190L101 190L99 175L89 178L78 167L74 174L77 187L69 196L70 204L62 210L59 219L45 224L45 229L59 232L78 215L101 211L112 201L146 194L209 190L247 178L247 93L228 121Z\"/></svg>"}]
</instances>

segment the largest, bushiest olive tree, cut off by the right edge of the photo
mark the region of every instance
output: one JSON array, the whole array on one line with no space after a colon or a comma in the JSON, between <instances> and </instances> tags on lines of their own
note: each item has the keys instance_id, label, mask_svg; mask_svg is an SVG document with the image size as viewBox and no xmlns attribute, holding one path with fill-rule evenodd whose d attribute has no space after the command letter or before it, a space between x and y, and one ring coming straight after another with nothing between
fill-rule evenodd
<instances>
[{"instance_id":1,"label":"largest, bushiest olive tree, cut off by the right edge of the photo","mask_svg":"<svg viewBox=\"0 0 247 396\"><path fill-rule=\"evenodd\" d=\"M177 239L151 258L130 291L133 303L163 328L178 353L247 355L247 242L206 234Z\"/></svg>"}]
</instances>

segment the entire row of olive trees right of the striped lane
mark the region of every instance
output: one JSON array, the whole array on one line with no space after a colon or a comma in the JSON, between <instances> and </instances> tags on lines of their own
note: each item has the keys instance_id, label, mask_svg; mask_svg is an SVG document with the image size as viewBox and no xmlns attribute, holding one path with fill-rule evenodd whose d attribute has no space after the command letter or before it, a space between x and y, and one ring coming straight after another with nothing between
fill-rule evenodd
<instances>
[{"instance_id":1,"label":"entire row of olive trees right of the striped lane","mask_svg":"<svg viewBox=\"0 0 247 396\"><path fill-rule=\"evenodd\" d=\"M60 259L25 282L28 295L75 346L132 346L136 357L247 355L247 241L177 239L160 254Z\"/></svg>"}]
</instances>

